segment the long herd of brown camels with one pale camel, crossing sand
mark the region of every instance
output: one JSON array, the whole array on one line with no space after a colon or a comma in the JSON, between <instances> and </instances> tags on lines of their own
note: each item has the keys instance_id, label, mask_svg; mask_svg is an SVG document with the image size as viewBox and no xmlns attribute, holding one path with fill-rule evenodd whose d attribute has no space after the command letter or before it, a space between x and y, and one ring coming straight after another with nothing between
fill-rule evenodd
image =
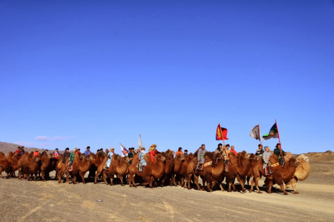
<instances>
[{"instance_id":1,"label":"long herd of brown camels with one pale camel, crossing sand","mask_svg":"<svg viewBox=\"0 0 334 222\"><path fill-rule=\"evenodd\" d=\"M132 164L129 164L128 157L113 155L109 169L106 170L106 161L108 156L104 152L98 154L91 153L85 156L83 153L75 155L72 164L72 171L68 170L68 159L65 164L62 162L62 154L55 158L53 155L37 155L33 157L33 153L24 153L22 156L17 153L9 152L7 155L0 152L0 173L5 171L6 178L15 178L15 171L18 171L18 179L22 177L26 180L36 180L38 175L40 180L50 180L49 173L56 171L55 180L76 184L77 180L82 183L94 181L104 181L106 185L113 185L113 179L118 178L121 185L125 185L124 181L128 181L129 187L137 185L158 187L158 186L182 186L187 189L212 191L213 189L221 189L224 191L237 191L234 186L234 180L237 178L241 185L241 192L246 192L245 183L249 188L249 192L253 191L255 185L257 192L260 194L259 180L264 176L262 170L262 158L257 157L253 153L248 154L246 151L234 155L228 153L229 169L225 171L224 156L221 153L207 152L205 154L205 162L212 164L204 167L202 170L197 168L197 151L196 153L174 157L174 151L157 153L152 162L150 155L145 155L147 166L143 171L138 172L138 155L134 155ZM271 155L270 162L274 165L278 163L278 157ZM296 182L305 180L310 174L310 164L308 157L299 155L293 157L291 153L285 156L284 166L271 167L272 174L266 176L264 185L266 191L271 193L274 184L280 186L280 191L287 194L285 189L292 185L294 194L299 192L296 190ZM88 178L84 178L88 173ZM116 177L115 177L116 176ZM72 179L72 181L70 180ZM202 178L202 186L198 184L198 178ZM251 180L250 180L251 179ZM223 188L223 180L225 180L226 188ZM249 185L250 181L250 185ZM215 185L217 186L215 188ZM232 188L232 189L231 189Z\"/></svg>"}]
</instances>

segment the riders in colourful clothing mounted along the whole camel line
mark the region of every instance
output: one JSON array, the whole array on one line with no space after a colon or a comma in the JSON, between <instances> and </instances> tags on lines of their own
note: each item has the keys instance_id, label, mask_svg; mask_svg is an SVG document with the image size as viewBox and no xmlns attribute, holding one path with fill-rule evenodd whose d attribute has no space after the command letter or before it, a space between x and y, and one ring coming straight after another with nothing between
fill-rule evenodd
<instances>
[{"instance_id":1,"label":"riders in colourful clothing mounted along the whole camel line","mask_svg":"<svg viewBox=\"0 0 334 222\"><path fill-rule=\"evenodd\" d=\"M63 160L62 162L65 164L66 160L69 159L69 170L72 170L72 163L74 160L74 157L76 154L80 154L80 148L73 148L72 153L69 152L70 148L65 148L65 152L63 153ZM139 159L139 163L138 163L138 172L143 171L144 167L147 165L147 162L145 160L145 147L141 147L138 149L134 149L134 147L129 148L128 150L125 149L126 153L123 153L125 155L127 155L127 157L129 158L129 164L132 164L132 160L134 158L135 154L138 154L138 159ZM48 154L47 153L48 150L46 149L45 151L42 152L42 155ZM103 152L103 149L100 148L97 150L97 154ZM15 153L17 153L17 155L23 155L24 154L24 146L19 146L17 148L17 151L15 151ZM87 146L86 151L84 152L85 156L90 155L90 146ZM108 149L106 149L106 155L108 155L108 160L106 161L106 165L105 165L105 169L106 171L109 170L109 166L111 164L111 158L112 156L115 154L115 148L111 147L110 151ZM156 144L152 144L149 148L148 153L150 154L150 159L153 162L154 161L154 156L157 155L158 151L157 151L157 145ZM204 164L205 164L205 153L207 153L207 150L205 149L205 144L202 144L200 146L200 148L198 148L198 155L197 155L197 159L198 159L198 165L197 165L197 169L200 171L203 169ZM225 158L225 171L228 172L228 163L229 163L229 157L228 157L228 153L234 153L235 156L237 156L237 151L234 150L234 146L230 146L230 144L226 144L225 146L223 146L223 144L218 144L218 147L216 148L216 150L214 151L214 153L222 153L224 158ZM282 148L280 148L280 143L276 144L276 148L273 150L273 153L276 154L278 156L278 160L279 160L279 164L283 166L284 164L284 156L285 156L285 151L282 150ZM35 152L33 153L33 157L37 156L39 153L38 148L35 149ZM58 159L59 156L59 152L58 152L58 148L55 149L54 153L52 153L52 155L54 155L54 158ZM184 150L184 152L182 152L182 147L179 147L178 150L175 152L175 157L177 157L177 155L188 155L188 151ZM257 155L257 157L262 157L263 160L263 167L262 169L264 169L264 174L265 176L269 176L269 174L271 174L271 170L270 170L270 166L271 166L271 162L269 160L269 157L271 156L271 152L270 152L270 147L269 146L262 146L262 144L258 145L258 148L256 150L255 155Z\"/></svg>"}]
</instances>

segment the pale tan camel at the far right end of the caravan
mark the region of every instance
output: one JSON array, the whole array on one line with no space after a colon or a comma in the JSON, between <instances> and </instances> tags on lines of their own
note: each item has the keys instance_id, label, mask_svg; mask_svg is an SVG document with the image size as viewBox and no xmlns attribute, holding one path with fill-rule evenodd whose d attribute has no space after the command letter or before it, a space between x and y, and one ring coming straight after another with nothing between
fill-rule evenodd
<instances>
[{"instance_id":1,"label":"pale tan camel at the far right end of the caravan","mask_svg":"<svg viewBox=\"0 0 334 222\"><path fill-rule=\"evenodd\" d=\"M287 161L287 159L285 158ZM294 189L294 194L299 194L299 191L296 190L296 183L298 180L303 181L308 178L310 175L311 167L310 163L308 162L308 157L301 154L297 157L297 162L299 162L299 166L296 167L296 172L294 172L294 177L289 180L286 185L285 189L289 188L289 185L292 185L292 188Z\"/></svg>"}]
</instances>

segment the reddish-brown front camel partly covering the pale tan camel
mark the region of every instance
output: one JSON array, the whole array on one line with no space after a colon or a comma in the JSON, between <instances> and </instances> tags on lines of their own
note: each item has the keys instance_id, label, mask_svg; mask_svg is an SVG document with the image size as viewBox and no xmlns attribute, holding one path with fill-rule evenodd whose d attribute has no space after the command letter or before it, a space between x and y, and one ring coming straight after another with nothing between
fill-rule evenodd
<instances>
[{"instance_id":1,"label":"reddish-brown front camel partly covering the pale tan camel","mask_svg":"<svg viewBox=\"0 0 334 222\"><path fill-rule=\"evenodd\" d=\"M280 190L283 191L283 194L287 195L283 182L288 182L294 177L294 173L296 172L296 167L299 166L299 162L296 161L295 157L291 157L289 161L285 162L283 167L279 164L278 166L275 166L274 164L278 163L278 157L275 154L271 155L269 160L272 164L271 171L273 174L264 180L268 194L271 194L271 188L275 183L277 183L280 186Z\"/></svg>"}]
</instances>

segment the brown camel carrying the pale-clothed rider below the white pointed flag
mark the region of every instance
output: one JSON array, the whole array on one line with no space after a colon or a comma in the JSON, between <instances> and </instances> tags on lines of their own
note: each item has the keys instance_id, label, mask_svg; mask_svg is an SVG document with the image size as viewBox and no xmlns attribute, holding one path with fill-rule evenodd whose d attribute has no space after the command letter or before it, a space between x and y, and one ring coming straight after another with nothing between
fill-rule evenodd
<instances>
[{"instance_id":1,"label":"brown camel carrying the pale-clothed rider below the white pointed flag","mask_svg":"<svg viewBox=\"0 0 334 222\"><path fill-rule=\"evenodd\" d=\"M143 183L142 185L150 185L150 188L153 188L152 183L164 176L165 172L165 160L166 157L164 157L161 153L157 153L156 156L154 156L154 160L152 162L150 154L146 153L145 154L145 161L147 165L143 169L143 172L138 172L138 162L139 158L138 155L134 155L134 159L132 159L132 164L129 166L129 186L136 187L136 184L134 182L134 176L138 175L141 178L143 178Z\"/></svg>"}]
</instances>

